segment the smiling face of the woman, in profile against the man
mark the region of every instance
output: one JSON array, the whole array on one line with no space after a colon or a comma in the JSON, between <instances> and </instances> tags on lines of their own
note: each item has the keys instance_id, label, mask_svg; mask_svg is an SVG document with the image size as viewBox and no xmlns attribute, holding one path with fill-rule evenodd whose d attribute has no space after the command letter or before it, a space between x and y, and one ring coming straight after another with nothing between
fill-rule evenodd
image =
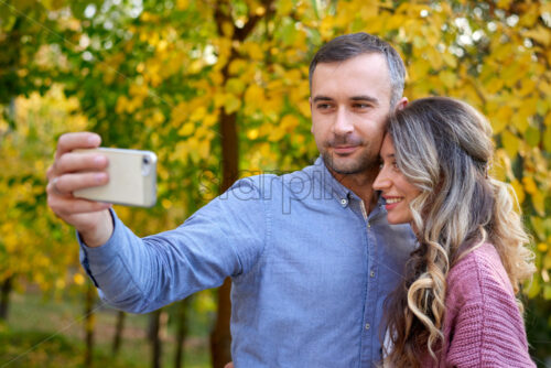
<instances>
[{"instance_id":1,"label":"smiling face of the woman, in profile against the man","mask_svg":"<svg viewBox=\"0 0 551 368\"><path fill-rule=\"evenodd\" d=\"M395 158L395 144L389 134L385 136L380 156L382 165L379 175L375 180L374 188L381 191L381 195L386 199L385 207L388 212L388 223L411 223L412 216L409 205L421 191L410 183L398 169Z\"/></svg>"}]
</instances>

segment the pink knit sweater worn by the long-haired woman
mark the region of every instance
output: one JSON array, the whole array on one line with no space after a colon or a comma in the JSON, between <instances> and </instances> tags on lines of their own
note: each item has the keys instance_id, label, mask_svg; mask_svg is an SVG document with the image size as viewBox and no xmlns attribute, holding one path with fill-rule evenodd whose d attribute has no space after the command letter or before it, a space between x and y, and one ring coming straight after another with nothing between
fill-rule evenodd
<instances>
[{"instance_id":1,"label":"pink knit sweater worn by the long-haired woman","mask_svg":"<svg viewBox=\"0 0 551 368\"><path fill-rule=\"evenodd\" d=\"M489 243L461 259L447 275L442 351L437 365L425 361L433 367L536 367L509 278Z\"/></svg>"}]
</instances>

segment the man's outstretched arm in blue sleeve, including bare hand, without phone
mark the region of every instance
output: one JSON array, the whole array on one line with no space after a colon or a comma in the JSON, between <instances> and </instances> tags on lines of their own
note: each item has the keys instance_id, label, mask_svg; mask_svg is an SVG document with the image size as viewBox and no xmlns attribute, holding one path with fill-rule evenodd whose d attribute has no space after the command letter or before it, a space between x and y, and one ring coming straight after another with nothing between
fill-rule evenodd
<instances>
[{"instance_id":1,"label":"man's outstretched arm in blue sleeve, including bare hand, without phone","mask_svg":"<svg viewBox=\"0 0 551 368\"><path fill-rule=\"evenodd\" d=\"M181 227L140 239L110 205L72 194L107 183L107 158L73 152L99 143L94 133L62 136L46 192L54 213L76 228L83 267L109 304L152 311L252 267L263 250L266 230L258 183L244 180Z\"/></svg>"}]
</instances>

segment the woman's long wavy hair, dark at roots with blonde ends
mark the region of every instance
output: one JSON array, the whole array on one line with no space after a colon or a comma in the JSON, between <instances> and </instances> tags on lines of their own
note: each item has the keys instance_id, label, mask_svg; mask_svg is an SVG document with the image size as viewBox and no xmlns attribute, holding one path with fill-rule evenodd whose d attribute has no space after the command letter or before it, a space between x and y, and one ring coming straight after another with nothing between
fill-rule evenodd
<instances>
[{"instance_id":1,"label":"woman's long wavy hair, dark at roots with blonde ends","mask_svg":"<svg viewBox=\"0 0 551 368\"><path fill-rule=\"evenodd\" d=\"M410 205L419 247L386 301L383 365L421 367L426 353L437 360L443 346L450 268L493 243L518 293L534 272L533 253L512 192L489 176L491 128L478 111L451 98L423 98L391 116L387 129L398 167L421 194Z\"/></svg>"}]
</instances>

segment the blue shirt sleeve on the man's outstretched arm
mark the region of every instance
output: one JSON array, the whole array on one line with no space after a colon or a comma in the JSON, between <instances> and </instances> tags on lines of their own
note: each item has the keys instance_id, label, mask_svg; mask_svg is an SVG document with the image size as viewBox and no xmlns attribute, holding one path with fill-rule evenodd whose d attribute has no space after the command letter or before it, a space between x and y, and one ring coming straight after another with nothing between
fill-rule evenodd
<instances>
[{"instance_id":1,"label":"blue shirt sleeve on the man's outstretched arm","mask_svg":"<svg viewBox=\"0 0 551 368\"><path fill-rule=\"evenodd\" d=\"M101 247L80 243L80 262L108 304L148 313L247 272L264 247L264 204L255 178L237 182L176 229L139 238L111 212Z\"/></svg>"}]
</instances>

